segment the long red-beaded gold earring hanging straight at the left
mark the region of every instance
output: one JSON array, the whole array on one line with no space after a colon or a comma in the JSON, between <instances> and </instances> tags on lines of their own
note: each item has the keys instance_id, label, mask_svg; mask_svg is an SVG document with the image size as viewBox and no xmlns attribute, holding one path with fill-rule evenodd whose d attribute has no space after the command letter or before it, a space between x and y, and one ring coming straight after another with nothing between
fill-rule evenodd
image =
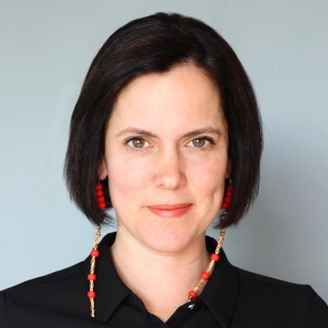
<instances>
[{"instance_id":1,"label":"long red-beaded gold earring hanging straight at the left","mask_svg":"<svg viewBox=\"0 0 328 328\"><path fill-rule=\"evenodd\" d=\"M98 208L104 210L106 208L106 200L104 196L103 185L101 183L96 184L95 186L95 194L97 198L97 204ZM98 251L98 241L101 237L101 227L97 229L95 238L94 238L94 245L91 250L91 267L90 267L90 273L87 274L87 280L90 281L90 290L87 292L87 297L90 300L90 307L91 307L91 316L95 317L95 297L96 292L94 291L94 282L97 279L96 274L94 273L95 269L95 259L99 256Z\"/></svg>"}]
</instances>

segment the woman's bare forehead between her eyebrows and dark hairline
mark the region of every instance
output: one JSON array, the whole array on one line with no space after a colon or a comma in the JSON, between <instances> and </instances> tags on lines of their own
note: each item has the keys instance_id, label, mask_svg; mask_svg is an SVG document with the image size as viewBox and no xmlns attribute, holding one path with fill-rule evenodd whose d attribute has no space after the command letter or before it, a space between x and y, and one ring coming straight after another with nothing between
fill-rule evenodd
<instances>
[{"instance_id":1,"label":"woman's bare forehead between her eyebrows and dark hairline","mask_svg":"<svg viewBox=\"0 0 328 328\"><path fill-rule=\"evenodd\" d=\"M224 119L216 85L200 68L179 66L165 73L137 78L120 93L109 127L120 122L148 126Z\"/></svg>"}]
</instances>

